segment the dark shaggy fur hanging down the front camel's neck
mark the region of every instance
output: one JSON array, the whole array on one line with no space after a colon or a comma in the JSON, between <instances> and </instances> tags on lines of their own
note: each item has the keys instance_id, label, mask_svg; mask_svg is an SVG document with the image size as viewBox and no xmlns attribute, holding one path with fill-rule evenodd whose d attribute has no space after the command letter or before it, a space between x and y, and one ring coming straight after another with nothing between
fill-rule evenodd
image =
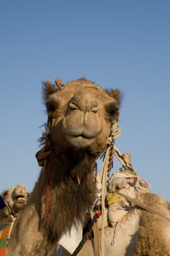
<instances>
[{"instance_id":1,"label":"dark shaggy fur hanging down the front camel's neck","mask_svg":"<svg viewBox=\"0 0 170 256\"><path fill-rule=\"evenodd\" d=\"M74 157L71 152L69 157L55 154L52 159L49 221L45 219L46 195L42 198L40 217L42 231L52 243L58 241L62 233L70 230L77 221L84 222L95 199L95 158L86 152L77 152L77 154L74 154ZM49 165L48 163L44 168L45 176ZM80 179L80 184L77 177Z\"/></svg>"}]
</instances>

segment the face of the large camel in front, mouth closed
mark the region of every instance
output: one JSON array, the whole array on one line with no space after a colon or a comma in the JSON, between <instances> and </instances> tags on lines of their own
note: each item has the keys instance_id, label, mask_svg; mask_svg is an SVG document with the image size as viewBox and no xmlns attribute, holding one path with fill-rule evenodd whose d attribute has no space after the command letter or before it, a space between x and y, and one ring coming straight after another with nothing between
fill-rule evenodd
<instances>
[{"instance_id":1,"label":"face of the large camel in front, mouth closed","mask_svg":"<svg viewBox=\"0 0 170 256\"><path fill-rule=\"evenodd\" d=\"M104 151L111 121L117 119L119 90L107 93L84 78L61 89L46 83L45 102L51 123L51 140L60 151Z\"/></svg>"}]
</instances>

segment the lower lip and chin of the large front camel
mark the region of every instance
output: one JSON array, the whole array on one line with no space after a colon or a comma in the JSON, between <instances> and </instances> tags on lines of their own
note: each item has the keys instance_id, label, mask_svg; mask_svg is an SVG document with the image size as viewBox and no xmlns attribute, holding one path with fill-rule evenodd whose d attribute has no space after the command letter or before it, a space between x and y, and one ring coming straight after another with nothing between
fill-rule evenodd
<instances>
[{"instance_id":1,"label":"lower lip and chin of the large front camel","mask_svg":"<svg viewBox=\"0 0 170 256\"><path fill-rule=\"evenodd\" d=\"M95 138L85 138L83 136L75 136L69 138L69 143L76 148L86 148L95 141Z\"/></svg>"}]
</instances>

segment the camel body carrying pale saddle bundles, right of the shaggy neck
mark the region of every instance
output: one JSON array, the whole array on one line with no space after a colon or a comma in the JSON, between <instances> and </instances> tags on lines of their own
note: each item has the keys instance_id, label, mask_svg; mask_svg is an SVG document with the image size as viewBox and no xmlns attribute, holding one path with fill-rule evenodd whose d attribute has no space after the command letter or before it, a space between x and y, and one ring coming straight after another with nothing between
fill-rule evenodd
<instances>
[{"instance_id":1,"label":"camel body carrying pale saddle bundles, right of the shaggy neck","mask_svg":"<svg viewBox=\"0 0 170 256\"><path fill-rule=\"evenodd\" d=\"M128 167L123 166L109 179L107 208L102 219L104 252L98 255L169 256L169 202L152 194L147 182L139 178L131 166L129 156L123 156L128 159ZM100 222L101 219L98 220L99 236ZM87 241L80 251L79 256L85 255L96 256L91 241Z\"/></svg>"}]
</instances>

